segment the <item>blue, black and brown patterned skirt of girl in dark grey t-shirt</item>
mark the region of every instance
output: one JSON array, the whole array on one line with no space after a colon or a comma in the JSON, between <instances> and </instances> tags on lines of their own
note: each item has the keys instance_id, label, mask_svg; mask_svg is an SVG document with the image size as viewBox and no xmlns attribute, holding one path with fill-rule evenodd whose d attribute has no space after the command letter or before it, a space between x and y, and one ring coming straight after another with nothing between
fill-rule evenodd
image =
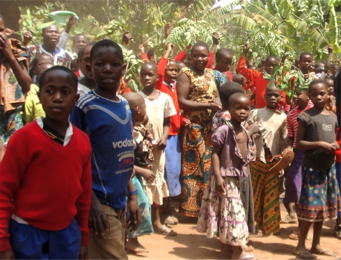
<instances>
[{"instance_id":1,"label":"blue, black and brown patterned skirt of girl in dark grey t-shirt","mask_svg":"<svg viewBox=\"0 0 341 260\"><path fill-rule=\"evenodd\" d=\"M302 188L297 218L309 222L335 220L341 211L335 165L328 170L302 168Z\"/></svg>"}]
</instances>

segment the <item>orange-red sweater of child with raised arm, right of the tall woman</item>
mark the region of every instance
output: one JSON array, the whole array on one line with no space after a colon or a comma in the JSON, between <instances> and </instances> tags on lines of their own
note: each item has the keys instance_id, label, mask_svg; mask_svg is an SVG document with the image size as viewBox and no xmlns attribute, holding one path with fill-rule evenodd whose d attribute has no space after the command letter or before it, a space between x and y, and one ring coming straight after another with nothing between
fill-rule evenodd
<instances>
[{"instance_id":1,"label":"orange-red sweater of child with raised arm, right of the tall woman","mask_svg":"<svg viewBox=\"0 0 341 260\"><path fill-rule=\"evenodd\" d=\"M240 57L237 64L237 72L245 76L248 81L253 81L255 85L255 108L264 108L267 106L267 102L264 99L265 89L267 88L269 81L264 79L264 74L262 72L255 72L245 67L246 57ZM280 101L279 110L282 110L281 106L286 105L285 92L282 91L282 100Z\"/></svg>"}]
</instances>

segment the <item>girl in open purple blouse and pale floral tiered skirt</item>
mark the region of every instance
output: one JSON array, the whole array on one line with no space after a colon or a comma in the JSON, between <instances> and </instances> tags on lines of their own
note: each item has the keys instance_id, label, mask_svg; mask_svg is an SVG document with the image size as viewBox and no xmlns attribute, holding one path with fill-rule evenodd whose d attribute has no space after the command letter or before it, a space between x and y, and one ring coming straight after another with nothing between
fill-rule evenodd
<instances>
[{"instance_id":1,"label":"girl in open purple blouse and pale floral tiered skirt","mask_svg":"<svg viewBox=\"0 0 341 260\"><path fill-rule=\"evenodd\" d=\"M207 237L219 236L228 244L227 259L254 259L243 252L248 242L248 226L240 195L240 178L248 177L247 165L253 156L252 140L241 125L250 112L250 99L236 93L230 97L230 121L212 135L212 167L203 195L198 231Z\"/></svg>"}]
</instances>

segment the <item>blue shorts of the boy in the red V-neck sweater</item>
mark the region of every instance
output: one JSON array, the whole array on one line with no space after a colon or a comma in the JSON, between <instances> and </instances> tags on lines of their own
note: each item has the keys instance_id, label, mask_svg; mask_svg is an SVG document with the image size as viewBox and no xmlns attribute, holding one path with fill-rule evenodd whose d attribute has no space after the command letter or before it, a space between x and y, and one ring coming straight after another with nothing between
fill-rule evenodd
<instances>
[{"instance_id":1,"label":"blue shorts of the boy in the red V-neck sweater","mask_svg":"<svg viewBox=\"0 0 341 260\"><path fill-rule=\"evenodd\" d=\"M79 259L81 231L76 220L58 231L10 220L9 233L15 259Z\"/></svg>"}]
</instances>

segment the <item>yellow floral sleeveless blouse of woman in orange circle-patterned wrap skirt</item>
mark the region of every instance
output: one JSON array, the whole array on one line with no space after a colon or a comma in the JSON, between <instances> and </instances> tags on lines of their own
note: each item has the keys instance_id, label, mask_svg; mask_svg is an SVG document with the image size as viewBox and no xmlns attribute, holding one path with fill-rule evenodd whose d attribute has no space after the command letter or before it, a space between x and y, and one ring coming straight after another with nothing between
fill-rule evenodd
<instances>
[{"instance_id":1,"label":"yellow floral sleeveless blouse of woman in orange circle-patterned wrap skirt","mask_svg":"<svg viewBox=\"0 0 341 260\"><path fill-rule=\"evenodd\" d=\"M206 104L214 103L217 91L214 74L210 69L205 69L205 72L206 75L200 76L188 67L183 67L180 74L186 74L191 81L189 85L189 100ZM189 120L209 121L212 120L213 115L211 110L205 109L201 111L184 111L184 116Z\"/></svg>"}]
</instances>

